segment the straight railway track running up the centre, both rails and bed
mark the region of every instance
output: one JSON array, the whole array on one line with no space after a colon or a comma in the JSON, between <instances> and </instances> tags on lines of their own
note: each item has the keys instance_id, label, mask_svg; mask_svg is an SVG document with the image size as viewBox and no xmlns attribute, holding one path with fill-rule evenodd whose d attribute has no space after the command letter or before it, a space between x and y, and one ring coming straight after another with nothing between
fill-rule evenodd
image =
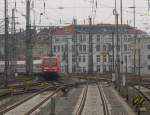
<instances>
[{"instance_id":1,"label":"straight railway track running up the centre, both rails and bed","mask_svg":"<svg viewBox=\"0 0 150 115\"><path fill-rule=\"evenodd\" d=\"M86 84L80 101L77 104L78 107L74 112L75 115L110 115L102 85L99 79L96 82L92 85Z\"/></svg>"}]
</instances>

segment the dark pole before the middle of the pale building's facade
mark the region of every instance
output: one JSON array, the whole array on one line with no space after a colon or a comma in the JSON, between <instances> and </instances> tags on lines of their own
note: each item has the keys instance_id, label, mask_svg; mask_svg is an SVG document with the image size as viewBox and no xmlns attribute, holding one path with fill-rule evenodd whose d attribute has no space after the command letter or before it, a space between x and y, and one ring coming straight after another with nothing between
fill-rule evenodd
<instances>
[{"instance_id":1,"label":"dark pole before the middle of the pale building's facade","mask_svg":"<svg viewBox=\"0 0 150 115\"><path fill-rule=\"evenodd\" d=\"M88 73L93 73L93 40L92 40L92 18L89 17L89 58L88 58Z\"/></svg>"}]
</instances>

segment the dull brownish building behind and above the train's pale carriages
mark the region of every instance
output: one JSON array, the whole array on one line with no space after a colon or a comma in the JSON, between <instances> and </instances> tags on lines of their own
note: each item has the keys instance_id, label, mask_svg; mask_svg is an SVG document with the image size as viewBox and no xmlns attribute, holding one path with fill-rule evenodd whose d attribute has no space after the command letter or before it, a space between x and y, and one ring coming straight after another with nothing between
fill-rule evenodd
<instances>
[{"instance_id":1,"label":"dull brownish building behind and above the train's pale carriages","mask_svg":"<svg viewBox=\"0 0 150 115\"><path fill-rule=\"evenodd\" d=\"M0 60L4 60L4 35L0 35ZM24 59L26 56L26 32L18 32L14 35L9 34L9 58L14 55L16 49L16 58ZM51 49L51 31L50 29L41 29L40 32L32 30L32 55L33 57L48 55Z\"/></svg>"}]
</instances>

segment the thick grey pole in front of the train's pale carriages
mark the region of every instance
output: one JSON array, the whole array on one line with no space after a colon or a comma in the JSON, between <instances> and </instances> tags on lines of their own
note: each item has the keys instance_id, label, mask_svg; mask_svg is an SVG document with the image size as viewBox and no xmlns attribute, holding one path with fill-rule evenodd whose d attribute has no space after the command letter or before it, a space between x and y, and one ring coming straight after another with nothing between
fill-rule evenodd
<instances>
[{"instance_id":1,"label":"thick grey pole in front of the train's pale carriages","mask_svg":"<svg viewBox=\"0 0 150 115\"><path fill-rule=\"evenodd\" d=\"M32 75L32 41L31 41L31 25L30 25L30 0L26 4L26 73Z\"/></svg>"}]
</instances>

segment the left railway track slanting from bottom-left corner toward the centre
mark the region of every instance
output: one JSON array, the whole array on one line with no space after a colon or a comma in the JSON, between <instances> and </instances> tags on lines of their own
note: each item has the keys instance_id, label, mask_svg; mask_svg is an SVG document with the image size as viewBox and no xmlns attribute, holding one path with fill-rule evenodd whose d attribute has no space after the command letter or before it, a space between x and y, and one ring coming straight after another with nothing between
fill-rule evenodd
<instances>
[{"instance_id":1,"label":"left railway track slanting from bottom-left corner toward the centre","mask_svg":"<svg viewBox=\"0 0 150 115\"><path fill-rule=\"evenodd\" d=\"M85 82L80 83L70 83L70 84L57 84L53 86L48 86L45 89L40 90L39 92L15 103L14 105L11 105L10 107L7 107L4 110L0 111L0 115L30 115L34 111L36 111L38 108L40 108L44 103L46 103L49 99L51 99L53 96L57 95L58 92L62 91L65 92L65 89L68 89L70 87L74 87L76 85L83 85ZM35 98L37 98L35 100ZM32 105L33 104L33 105ZM17 112L18 111L18 112Z\"/></svg>"}]
</instances>

